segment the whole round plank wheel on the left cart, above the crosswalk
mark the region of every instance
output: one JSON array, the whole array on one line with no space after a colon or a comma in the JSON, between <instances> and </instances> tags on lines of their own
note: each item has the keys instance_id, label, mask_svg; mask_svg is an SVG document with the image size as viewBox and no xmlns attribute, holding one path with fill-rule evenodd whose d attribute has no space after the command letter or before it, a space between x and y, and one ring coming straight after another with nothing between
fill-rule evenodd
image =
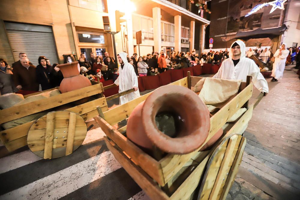
<instances>
[{"instance_id":1,"label":"whole round plank wheel on the left cart, above the crosswalk","mask_svg":"<svg viewBox=\"0 0 300 200\"><path fill-rule=\"evenodd\" d=\"M87 132L84 119L75 112L49 112L36 120L28 131L29 149L44 159L72 154Z\"/></svg>"}]
</instances>

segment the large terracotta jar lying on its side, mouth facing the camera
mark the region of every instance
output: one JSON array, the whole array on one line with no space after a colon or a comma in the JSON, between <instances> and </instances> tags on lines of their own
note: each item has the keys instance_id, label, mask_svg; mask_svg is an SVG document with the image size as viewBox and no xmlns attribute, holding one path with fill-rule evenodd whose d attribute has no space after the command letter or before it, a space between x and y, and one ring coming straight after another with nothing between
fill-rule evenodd
<instances>
[{"instance_id":1,"label":"large terracotta jar lying on its side, mouth facing the camera","mask_svg":"<svg viewBox=\"0 0 300 200\"><path fill-rule=\"evenodd\" d=\"M170 137L158 129L155 117L159 113L173 113L176 136ZM143 148L153 145L164 152L187 154L199 148L208 136L209 111L190 89L167 85L153 91L131 113L127 123L127 137Z\"/></svg>"}]
</instances>

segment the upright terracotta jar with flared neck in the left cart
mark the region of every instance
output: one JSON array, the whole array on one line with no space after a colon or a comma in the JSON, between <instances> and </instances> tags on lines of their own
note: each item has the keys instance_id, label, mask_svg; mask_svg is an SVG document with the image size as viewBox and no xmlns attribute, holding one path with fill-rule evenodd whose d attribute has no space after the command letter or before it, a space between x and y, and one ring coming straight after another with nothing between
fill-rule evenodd
<instances>
[{"instance_id":1,"label":"upright terracotta jar with flared neck in the left cart","mask_svg":"<svg viewBox=\"0 0 300 200\"><path fill-rule=\"evenodd\" d=\"M60 64L57 67L61 70L64 79L62 79L59 90L61 93L77 90L91 85L91 82L85 76L79 74L80 68L78 62ZM81 104L88 101L88 97L74 102Z\"/></svg>"}]
</instances>

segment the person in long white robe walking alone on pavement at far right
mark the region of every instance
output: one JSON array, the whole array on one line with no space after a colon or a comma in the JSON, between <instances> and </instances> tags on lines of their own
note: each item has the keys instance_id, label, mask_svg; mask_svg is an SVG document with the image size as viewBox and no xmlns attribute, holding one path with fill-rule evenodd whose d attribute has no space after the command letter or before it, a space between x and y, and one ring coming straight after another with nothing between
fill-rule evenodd
<instances>
[{"instance_id":1,"label":"person in long white robe walking alone on pavement at far right","mask_svg":"<svg viewBox=\"0 0 300 200\"><path fill-rule=\"evenodd\" d=\"M277 49L277 51L274 53L275 61L273 63L271 74L273 79L271 81L278 81L277 79L282 79L286 58L289 55L289 50L287 50L285 47L286 45L283 43L281 48Z\"/></svg>"}]
</instances>

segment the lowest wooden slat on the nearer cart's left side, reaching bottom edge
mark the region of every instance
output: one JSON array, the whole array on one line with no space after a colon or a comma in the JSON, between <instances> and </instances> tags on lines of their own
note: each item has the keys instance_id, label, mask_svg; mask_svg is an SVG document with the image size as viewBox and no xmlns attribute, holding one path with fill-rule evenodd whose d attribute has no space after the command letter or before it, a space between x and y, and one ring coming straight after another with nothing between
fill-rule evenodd
<instances>
[{"instance_id":1,"label":"lowest wooden slat on the nearer cart's left side, reaching bottom edge","mask_svg":"<svg viewBox=\"0 0 300 200\"><path fill-rule=\"evenodd\" d=\"M167 200L169 197L158 187L158 185L142 169L125 156L116 145L104 136L108 149L113 153L116 160L122 163L122 167L134 179L134 181L146 192L146 194L155 200Z\"/></svg>"}]
</instances>

